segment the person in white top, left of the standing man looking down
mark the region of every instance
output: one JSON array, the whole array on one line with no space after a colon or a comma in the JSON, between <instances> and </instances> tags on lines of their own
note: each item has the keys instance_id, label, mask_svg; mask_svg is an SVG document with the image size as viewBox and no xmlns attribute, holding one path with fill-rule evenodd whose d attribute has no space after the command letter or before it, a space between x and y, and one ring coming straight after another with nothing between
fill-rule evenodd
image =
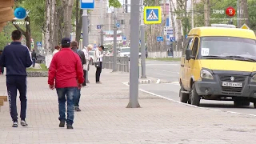
<instances>
[{"instance_id":1,"label":"person in white top, left of the standing man looking down","mask_svg":"<svg viewBox=\"0 0 256 144\"><path fill-rule=\"evenodd\" d=\"M93 49L92 45L88 45L87 47L84 46L82 49L83 53L85 54L86 58L86 65L83 65L83 78L85 78L85 81L83 82L82 86L86 86L86 74L87 71L89 71L89 66L90 66L90 56L89 56L89 51Z\"/></svg>"}]
</instances>

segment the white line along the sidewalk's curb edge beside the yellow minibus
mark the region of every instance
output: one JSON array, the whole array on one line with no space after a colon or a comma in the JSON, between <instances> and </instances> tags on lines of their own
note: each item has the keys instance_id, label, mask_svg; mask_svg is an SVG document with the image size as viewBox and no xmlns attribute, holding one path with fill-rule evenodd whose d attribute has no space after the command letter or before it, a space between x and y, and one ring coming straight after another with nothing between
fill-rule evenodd
<instances>
[{"instance_id":1,"label":"white line along the sidewalk's curb edge beside the yellow minibus","mask_svg":"<svg viewBox=\"0 0 256 144\"><path fill-rule=\"evenodd\" d=\"M129 86L128 85L128 82L122 82L122 84L126 85L126 86ZM146 90L142 90L142 89L138 89L146 94L151 94L151 95L154 95L156 97L159 97L159 98L163 98L163 99L166 99L166 100L169 100L171 102L176 102L176 103L179 103L179 104L182 104L182 105L185 105L185 106L190 106L190 107L194 107L194 108L198 108L198 109L203 109L203 110L214 110L214 111L222 111L222 112L225 112L225 113L230 113L230 114L242 114L242 115L249 115L249 116L252 116L252 117L256 117L255 114L246 114L246 113L238 113L238 112L234 112L234 111L227 111L227 110L218 110L218 109L212 109L212 108L206 108L206 107L199 107L199 106L194 106L194 105L190 105L190 104L187 104L187 103L183 103L183 102L179 102L179 101L175 101L174 99L171 99L171 98L166 98L162 95L159 95L159 94L154 94L154 93L151 93L150 91L146 91Z\"/></svg>"}]
</instances>

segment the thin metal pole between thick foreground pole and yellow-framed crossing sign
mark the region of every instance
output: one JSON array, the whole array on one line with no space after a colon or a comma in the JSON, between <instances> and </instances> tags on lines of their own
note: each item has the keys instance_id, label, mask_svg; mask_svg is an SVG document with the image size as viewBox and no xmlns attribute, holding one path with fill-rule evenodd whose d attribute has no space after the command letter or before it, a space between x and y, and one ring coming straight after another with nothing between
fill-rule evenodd
<instances>
[{"instance_id":1,"label":"thin metal pole between thick foreground pole and yellow-framed crossing sign","mask_svg":"<svg viewBox=\"0 0 256 144\"><path fill-rule=\"evenodd\" d=\"M144 0L141 0L141 65L142 65L142 77L141 78L146 78L146 51L145 51L145 25L143 22L143 2Z\"/></svg>"}]
</instances>

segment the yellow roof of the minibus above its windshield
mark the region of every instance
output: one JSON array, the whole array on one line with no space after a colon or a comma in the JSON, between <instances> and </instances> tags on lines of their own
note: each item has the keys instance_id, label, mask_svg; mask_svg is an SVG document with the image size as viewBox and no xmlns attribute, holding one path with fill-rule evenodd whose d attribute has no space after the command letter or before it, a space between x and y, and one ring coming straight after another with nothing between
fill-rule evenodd
<instances>
[{"instance_id":1,"label":"yellow roof of the minibus above its windshield","mask_svg":"<svg viewBox=\"0 0 256 144\"><path fill-rule=\"evenodd\" d=\"M188 36L197 35L199 37L207 36L227 36L227 37L238 37L238 38L250 38L255 39L256 36L253 30L239 29L239 28L226 28L226 27L196 27L190 30Z\"/></svg>"}]
</instances>

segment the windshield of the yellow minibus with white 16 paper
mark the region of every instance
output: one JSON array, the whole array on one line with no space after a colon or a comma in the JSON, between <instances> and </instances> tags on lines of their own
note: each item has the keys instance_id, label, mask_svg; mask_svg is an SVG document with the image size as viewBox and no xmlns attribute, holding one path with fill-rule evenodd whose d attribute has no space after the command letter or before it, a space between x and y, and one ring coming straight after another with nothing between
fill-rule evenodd
<instances>
[{"instance_id":1,"label":"windshield of the yellow minibus with white 16 paper","mask_svg":"<svg viewBox=\"0 0 256 144\"><path fill-rule=\"evenodd\" d=\"M202 58L232 57L256 59L256 41L249 38L204 37L201 43Z\"/></svg>"}]
</instances>

